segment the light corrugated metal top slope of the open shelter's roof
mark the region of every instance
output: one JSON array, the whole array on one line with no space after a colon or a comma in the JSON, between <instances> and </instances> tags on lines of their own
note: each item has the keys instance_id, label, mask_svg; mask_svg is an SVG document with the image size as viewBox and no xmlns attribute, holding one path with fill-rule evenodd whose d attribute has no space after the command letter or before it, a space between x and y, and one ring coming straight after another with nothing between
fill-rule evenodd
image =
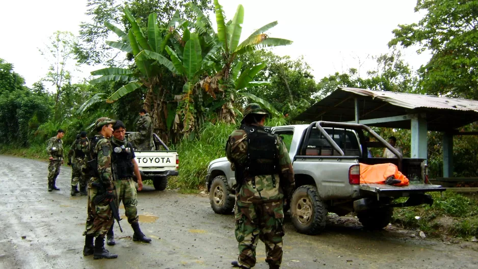
<instances>
[{"instance_id":1,"label":"light corrugated metal top slope of the open shelter's roof","mask_svg":"<svg viewBox=\"0 0 478 269\"><path fill-rule=\"evenodd\" d=\"M433 109L450 109L478 112L478 101L458 98L439 97L434 95L397 93L385 91L372 91L357 88L338 88L338 90L351 92L363 96L377 98L393 105L407 109L428 107Z\"/></svg>"}]
</instances>

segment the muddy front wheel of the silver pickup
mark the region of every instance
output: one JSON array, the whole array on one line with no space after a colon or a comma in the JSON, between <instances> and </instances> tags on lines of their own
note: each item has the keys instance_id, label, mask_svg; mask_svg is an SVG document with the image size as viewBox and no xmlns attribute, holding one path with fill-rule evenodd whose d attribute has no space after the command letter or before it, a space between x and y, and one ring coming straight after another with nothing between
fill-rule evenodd
<instances>
[{"instance_id":1,"label":"muddy front wheel of the silver pickup","mask_svg":"<svg viewBox=\"0 0 478 269\"><path fill-rule=\"evenodd\" d=\"M218 214L229 214L234 208L234 198L229 195L232 192L229 190L227 178L225 176L217 176L213 179L209 190L209 201L211 208Z\"/></svg>"}]
</instances>

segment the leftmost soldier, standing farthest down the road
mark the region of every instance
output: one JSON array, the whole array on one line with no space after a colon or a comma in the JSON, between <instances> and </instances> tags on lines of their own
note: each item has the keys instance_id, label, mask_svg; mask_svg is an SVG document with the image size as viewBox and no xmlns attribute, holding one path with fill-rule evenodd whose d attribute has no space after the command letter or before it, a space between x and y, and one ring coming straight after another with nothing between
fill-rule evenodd
<instances>
[{"instance_id":1,"label":"leftmost soldier, standing farthest down the road","mask_svg":"<svg viewBox=\"0 0 478 269\"><path fill-rule=\"evenodd\" d=\"M58 129L57 136L52 137L46 144L46 151L48 152L48 192L53 190L60 191L56 186L57 176L60 174L60 166L63 164L63 141L62 138L65 131Z\"/></svg>"}]
</instances>

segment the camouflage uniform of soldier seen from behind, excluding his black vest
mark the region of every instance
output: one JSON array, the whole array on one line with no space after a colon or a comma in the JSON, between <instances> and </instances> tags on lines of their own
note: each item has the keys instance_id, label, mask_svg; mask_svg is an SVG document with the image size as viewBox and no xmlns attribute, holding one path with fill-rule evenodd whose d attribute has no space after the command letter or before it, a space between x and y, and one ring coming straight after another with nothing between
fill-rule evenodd
<instances>
[{"instance_id":1,"label":"camouflage uniform of soldier seen from behind, excluding his black vest","mask_svg":"<svg viewBox=\"0 0 478 269\"><path fill-rule=\"evenodd\" d=\"M248 113L245 111L244 114ZM257 132L265 132L262 126L250 126L254 126ZM232 170L236 166L244 169L244 182L238 182L240 189L236 191L235 202L235 237L240 253L238 265L243 268L255 265L258 239L264 242L267 252L265 261L270 268L279 268L282 261L283 200L290 197L295 183L287 148L280 138L276 136L276 139L279 169L275 175L248 176L244 169L248 148L245 130L233 131L226 144L226 156L231 162ZM275 182L275 178L279 178L279 182Z\"/></svg>"}]
</instances>

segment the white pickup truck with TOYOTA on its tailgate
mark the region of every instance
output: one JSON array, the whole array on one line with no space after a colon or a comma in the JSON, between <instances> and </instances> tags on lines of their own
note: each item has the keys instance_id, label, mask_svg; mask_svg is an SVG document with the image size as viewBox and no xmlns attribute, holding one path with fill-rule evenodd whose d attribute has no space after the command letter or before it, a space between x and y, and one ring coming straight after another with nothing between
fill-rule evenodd
<instances>
[{"instance_id":1,"label":"white pickup truck with TOYOTA on its tailgate","mask_svg":"<svg viewBox=\"0 0 478 269\"><path fill-rule=\"evenodd\" d=\"M154 150L135 150L143 180L153 181L154 189L164 191L168 185L169 176L178 175L179 155L169 150L168 146L153 133ZM163 147L164 150L160 150Z\"/></svg>"}]
</instances>

